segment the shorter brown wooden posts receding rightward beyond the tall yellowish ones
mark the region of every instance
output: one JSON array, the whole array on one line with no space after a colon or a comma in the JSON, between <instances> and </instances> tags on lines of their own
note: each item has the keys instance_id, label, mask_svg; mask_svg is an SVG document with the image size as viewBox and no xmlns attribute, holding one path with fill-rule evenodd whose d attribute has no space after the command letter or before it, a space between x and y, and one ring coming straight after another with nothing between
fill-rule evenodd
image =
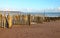
<instances>
[{"instance_id":1,"label":"shorter brown wooden posts receding rightward beyond the tall yellowish ones","mask_svg":"<svg viewBox=\"0 0 60 38\"><path fill-rule=\"evenodd\" d=\"M31 25L31 24L60 20L60 17L45 17L45 16L38 16L38 15L35 16L35 15L27 14L27 15L16 15L13 17L13 20L15 21L15 23L13 24Z\"/></svg>"}]
</instances>

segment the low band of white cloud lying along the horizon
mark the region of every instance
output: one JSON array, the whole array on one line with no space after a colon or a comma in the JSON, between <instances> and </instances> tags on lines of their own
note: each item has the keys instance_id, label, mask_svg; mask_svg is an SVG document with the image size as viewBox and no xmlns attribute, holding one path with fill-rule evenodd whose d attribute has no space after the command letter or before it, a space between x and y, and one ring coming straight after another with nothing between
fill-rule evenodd
<instances>
[{"instance_id":1,"label":"low band of white cloud lying along the horizon","mask_svg":"<svg viewBox=\"0 0 60 38\"><path fill-rule=\"evenodd\" d=\"M60 7L57 8L0 8L0 11L22 11L22 12L60 12Z\"/></svg>"}]
</instances>

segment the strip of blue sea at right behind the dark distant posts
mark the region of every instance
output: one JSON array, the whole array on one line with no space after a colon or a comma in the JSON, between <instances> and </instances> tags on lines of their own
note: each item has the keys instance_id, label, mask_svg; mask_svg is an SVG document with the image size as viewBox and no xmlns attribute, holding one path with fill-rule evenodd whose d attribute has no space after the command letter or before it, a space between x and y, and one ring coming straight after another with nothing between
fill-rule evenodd
<instances>
[{"instance_id":1,"label":"strip of blue sea at right behind the dark distant posts","mask_svg":"<svg viewBox=\"0 0 60 38\"><path fill-rule=\"evenodd\" d=\"M32 15L43 15L47 17L60 17L60 12L35 12L35 13L30 13Z\"/></svg>"}]
</instances>

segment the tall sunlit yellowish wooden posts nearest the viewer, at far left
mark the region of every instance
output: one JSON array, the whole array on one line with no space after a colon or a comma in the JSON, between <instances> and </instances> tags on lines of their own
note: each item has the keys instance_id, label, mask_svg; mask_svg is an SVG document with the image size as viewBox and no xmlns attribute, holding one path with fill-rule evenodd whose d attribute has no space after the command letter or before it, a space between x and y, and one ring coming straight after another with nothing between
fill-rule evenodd
<instances>
[{"instance_id":1,"label":"tall sunlit yellowish wooden posts nearest the viewer, at far left","mask_svg":"<svg viewBox=\"0 0 60 38\"><path fill-rule=\"evenodd\" d=\"M11 28L12 26L12 17L8 14L0 14L0 27L2 28Z\"/></svg>"}]
</instances>

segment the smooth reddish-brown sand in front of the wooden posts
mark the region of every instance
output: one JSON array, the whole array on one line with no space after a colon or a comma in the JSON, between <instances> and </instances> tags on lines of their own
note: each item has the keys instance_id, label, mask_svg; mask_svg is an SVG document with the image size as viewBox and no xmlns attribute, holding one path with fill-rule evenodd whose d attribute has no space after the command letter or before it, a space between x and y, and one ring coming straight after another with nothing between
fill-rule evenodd
<instances>
[{"instance_id":1,"label":"smooth reddish-brown sand in front of the wooden posts","mask_svg":"<svg viewBox=\"0 0 60 38\"><path fill-rule=\"evenodd\" d=\"M60 38L60 21L0 28L0 38Z\"/></svg>"}]
</instances>

